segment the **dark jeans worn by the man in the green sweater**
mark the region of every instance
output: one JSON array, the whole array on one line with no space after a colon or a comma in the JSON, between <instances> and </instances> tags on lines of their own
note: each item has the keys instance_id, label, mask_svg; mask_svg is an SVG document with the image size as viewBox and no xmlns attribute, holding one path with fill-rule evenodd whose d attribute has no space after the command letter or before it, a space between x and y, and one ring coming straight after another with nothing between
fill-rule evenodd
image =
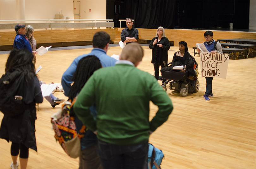
<instances>
[{"instance_id":1,"label":"dark jeans worn by the man in the green sweater","mask_svg":"<svg viewBox=\"0 0 256 169\"><path fill-rule=\"evenodd\" d=\"M137 145L116 145L98 140L98 154L104 169L147 168L148 142Z\"/></svg>"}]
</instances>

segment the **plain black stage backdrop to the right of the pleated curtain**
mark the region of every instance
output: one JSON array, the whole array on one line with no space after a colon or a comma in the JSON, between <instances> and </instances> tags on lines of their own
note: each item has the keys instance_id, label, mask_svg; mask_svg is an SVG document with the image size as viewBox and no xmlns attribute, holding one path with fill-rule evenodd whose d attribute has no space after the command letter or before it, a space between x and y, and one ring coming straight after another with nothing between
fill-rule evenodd
<instances>
[{"instance_id":1,"label":"plain black stage backdrop to the right of the pleated curtain","mask_svg":"<svg viewBox=\"0 0 256 169\"><path fill-rule=\"evenodd\" d=\"M249 0L178 0L175 26L186 29L249 28Z\"/></svg>"}]
</instances>

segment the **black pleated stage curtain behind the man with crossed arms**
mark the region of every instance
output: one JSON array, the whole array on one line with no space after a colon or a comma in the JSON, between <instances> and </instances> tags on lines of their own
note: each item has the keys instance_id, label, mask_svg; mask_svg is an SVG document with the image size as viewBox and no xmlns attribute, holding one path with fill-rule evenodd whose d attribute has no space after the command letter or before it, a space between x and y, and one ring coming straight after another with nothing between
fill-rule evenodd
<instances>
[{"instance_id":1,"label":"black pleated stage curtain behind the man with crossed arms","mask_svg":"<svg viewBox=\"0 0 256 169\"><path fill-rule=\"evenodd\" d=\"M174 9L176 1L171 0L133 0L127 2L128 16L134 19L135 28L157 29L174 28Z\"/></svg>"}]
</instances>

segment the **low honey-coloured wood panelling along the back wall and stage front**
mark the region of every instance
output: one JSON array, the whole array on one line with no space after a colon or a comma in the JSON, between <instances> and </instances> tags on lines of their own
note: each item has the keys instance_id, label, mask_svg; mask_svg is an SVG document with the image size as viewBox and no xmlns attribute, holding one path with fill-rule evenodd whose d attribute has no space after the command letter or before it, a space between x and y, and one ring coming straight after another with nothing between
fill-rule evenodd
<instances>
[{"instance_id":1,"label":"low honey-coloured wood panelling along the back wall and stage front","mask_svg":"<svg viewBox=\"0 0 256 169\"><path fill-rule=\"evenodd\" d=\"M118 28L122 30L124 28ZM45 30L34 31L34 37L37 43L57 43L57 42L79 42L92 41L94 33L105 31L110 35L110 39L115 39L115 29L66 29L66 30ZM139 39L152 40L155 37L156 29L138 28ZM166 37L169 41L174 41L174 46L178 46L180 41L186 41L188 47L196 46L196 43L203 43L204 32L206 30L188 30L188 29L165 29ZM235 32L235 31L213 31L213 39L231 39L245 38L256 39L256 32ZM15 32L0 32L0 45L12 45L15 38Z\"/></svg>"}]
</instances>

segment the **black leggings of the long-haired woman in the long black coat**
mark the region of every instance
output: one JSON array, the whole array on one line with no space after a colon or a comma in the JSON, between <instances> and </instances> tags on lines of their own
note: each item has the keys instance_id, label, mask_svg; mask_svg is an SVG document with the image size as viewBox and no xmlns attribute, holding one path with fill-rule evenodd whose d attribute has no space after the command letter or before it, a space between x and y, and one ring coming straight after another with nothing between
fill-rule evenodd
<instances>
[{"instance_id":1,"label":"black leggings of the long-haired woman in the long black coat","mask_svg":"<svg viewBox=\"0 0 256 169\"><path fill-rule=\"evenodd\" d=\"M21 152L20 152L21 150ZM20 152L20 158L28 158L28 148L22 143L12 143L11 145L11 155L17 156Z\"/></svg>"}]
</instances>

